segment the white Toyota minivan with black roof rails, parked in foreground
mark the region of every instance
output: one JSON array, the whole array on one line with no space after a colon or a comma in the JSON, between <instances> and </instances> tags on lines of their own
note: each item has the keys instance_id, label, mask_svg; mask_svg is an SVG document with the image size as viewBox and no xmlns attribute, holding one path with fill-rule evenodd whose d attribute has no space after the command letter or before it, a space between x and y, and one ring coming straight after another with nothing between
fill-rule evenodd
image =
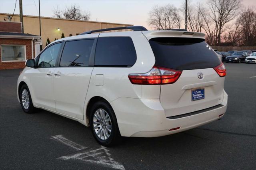
<instances>
[{"instance_id":1,"label":"white Toyota minivan with black roof rails, parked in foreground","mask_svg":"<svg viewBox=\"0 0 256 170\"><path fill-rule=\"evenodd\" d=\"M133 31L102 33L124 29ZM17 82L22 109L76 120L104 146L182 132L227 108L226 68L203 33L94 30L50 43L26 66Z\"/></svg>"}]
</instances>

